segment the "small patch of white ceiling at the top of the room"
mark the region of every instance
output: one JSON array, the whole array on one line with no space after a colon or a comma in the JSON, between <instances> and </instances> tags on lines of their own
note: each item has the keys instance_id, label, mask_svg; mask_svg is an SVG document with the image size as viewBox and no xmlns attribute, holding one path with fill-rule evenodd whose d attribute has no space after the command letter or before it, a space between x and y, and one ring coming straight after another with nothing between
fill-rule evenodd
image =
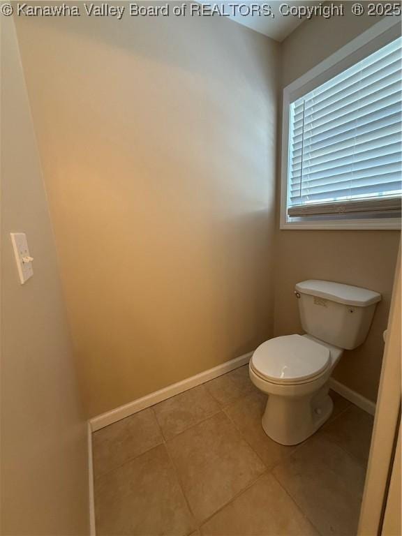
<instances>
[{"instance_id":1,"label":"small patch of white ceiling at the top of the room","mask_svg":"<svg viewBox=\"0 0 402 536\"><path fill-rule=\"evenodd\" d=\"M261 1L216 1L211 2L207 0L199 0L200 3L208 4L209 6L223 6L225 5L226 13L230 13L229 18L234 20L235 22L238 22L239 24L244 24L244 26L247 26L248 28L251 28L255 31L260 32L260 34L265 34L265 36L271 37L272 39L275 39L276 41L283 41L285 37L287 37L289 34L292 33L292 31L301 24L305 19L299 19L297 17L294 17L292 15L289 15L288 17L285 17L281 15L279 12L279 6L281 4L288 4L288 6L314 6L318 5L319 3L322 3L322 1L314 1L314 0L303 0L303 1L278 1L278 0L267 0L265 2ZM258 16L258 15L235 15L233 16L233 8L230 7L232 4L237 5L247 5L250 6L250 4L269 4L272 8L272 13L274 17L267 17L267 16Z\"/></svg>"}]
</instances>

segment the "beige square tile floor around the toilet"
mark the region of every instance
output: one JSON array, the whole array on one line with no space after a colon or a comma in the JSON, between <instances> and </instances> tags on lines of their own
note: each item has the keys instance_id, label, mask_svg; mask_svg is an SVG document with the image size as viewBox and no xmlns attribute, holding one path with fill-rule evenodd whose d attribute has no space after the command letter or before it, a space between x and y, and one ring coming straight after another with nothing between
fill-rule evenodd
<instances>
[{"instance_id":1,"label":"beige square tile floor around the toilet","mask_svg":"<svg viewBox=\"0 0 402 536\"><path fill-rule=\"evenodd\" d=\"M97 535L355 535L373 417L331 396L296 447L262 431L247 366L95 432Z\"/></svg>"}]
</instances>

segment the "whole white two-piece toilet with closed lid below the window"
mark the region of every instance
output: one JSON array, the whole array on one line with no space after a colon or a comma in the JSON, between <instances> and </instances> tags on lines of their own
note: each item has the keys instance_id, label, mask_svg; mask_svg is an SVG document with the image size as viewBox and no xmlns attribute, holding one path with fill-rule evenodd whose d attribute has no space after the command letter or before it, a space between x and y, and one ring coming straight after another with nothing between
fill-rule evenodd
<instances>
[{"instance_id":1,"label":"whole white two-piece toilet with closed lid below the window","mask_svg":"<svg viewBox=\"0 0 402 536\"><path fill-rule=\"evenodd\" d=\"M251 381L269 395L262 428L282 445L304 441L329 418L329 377L343 350L364 342L381 299L372 290L318 280L297 283L295 295L306 334L271 338L249 365Z\"/></svg>"}]
</instances>

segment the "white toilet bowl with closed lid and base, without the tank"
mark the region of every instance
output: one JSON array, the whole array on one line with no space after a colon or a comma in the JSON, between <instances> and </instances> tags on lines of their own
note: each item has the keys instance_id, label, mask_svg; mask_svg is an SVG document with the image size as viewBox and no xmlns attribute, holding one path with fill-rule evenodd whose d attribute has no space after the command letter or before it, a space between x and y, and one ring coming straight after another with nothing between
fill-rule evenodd
<instances>
[{"instance_id":1,"label":"white toilet bowl with closed lid and base, without the tank","mask_svg":"<svg viewBox=\"0 0 402 536\"><path fill-rule=\"evenodd\" d=\"M329 377L343 350L312 336L288 335L262 343L249 364L251 381L269 399L262 428L281 445L297 445L332 413Z\"/></svg>"}]
</instances>

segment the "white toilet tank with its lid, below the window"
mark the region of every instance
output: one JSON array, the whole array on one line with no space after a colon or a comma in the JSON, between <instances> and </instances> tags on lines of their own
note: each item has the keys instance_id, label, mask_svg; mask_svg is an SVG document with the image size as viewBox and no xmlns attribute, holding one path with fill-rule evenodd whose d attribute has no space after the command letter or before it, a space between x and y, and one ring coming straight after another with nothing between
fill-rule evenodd
<instances>
[{"instance_id":1,"label":"white toilet tank with its lid, below the window","mask_svg":"<svg viewBox=\"0 0 402 536\"><path fill-rule=\"evenodd\" d=\"M345 350L364 343L381 300L373 290L318 279L297 283L295 294L304 331Z\"/></svg>"}]
</instances>

